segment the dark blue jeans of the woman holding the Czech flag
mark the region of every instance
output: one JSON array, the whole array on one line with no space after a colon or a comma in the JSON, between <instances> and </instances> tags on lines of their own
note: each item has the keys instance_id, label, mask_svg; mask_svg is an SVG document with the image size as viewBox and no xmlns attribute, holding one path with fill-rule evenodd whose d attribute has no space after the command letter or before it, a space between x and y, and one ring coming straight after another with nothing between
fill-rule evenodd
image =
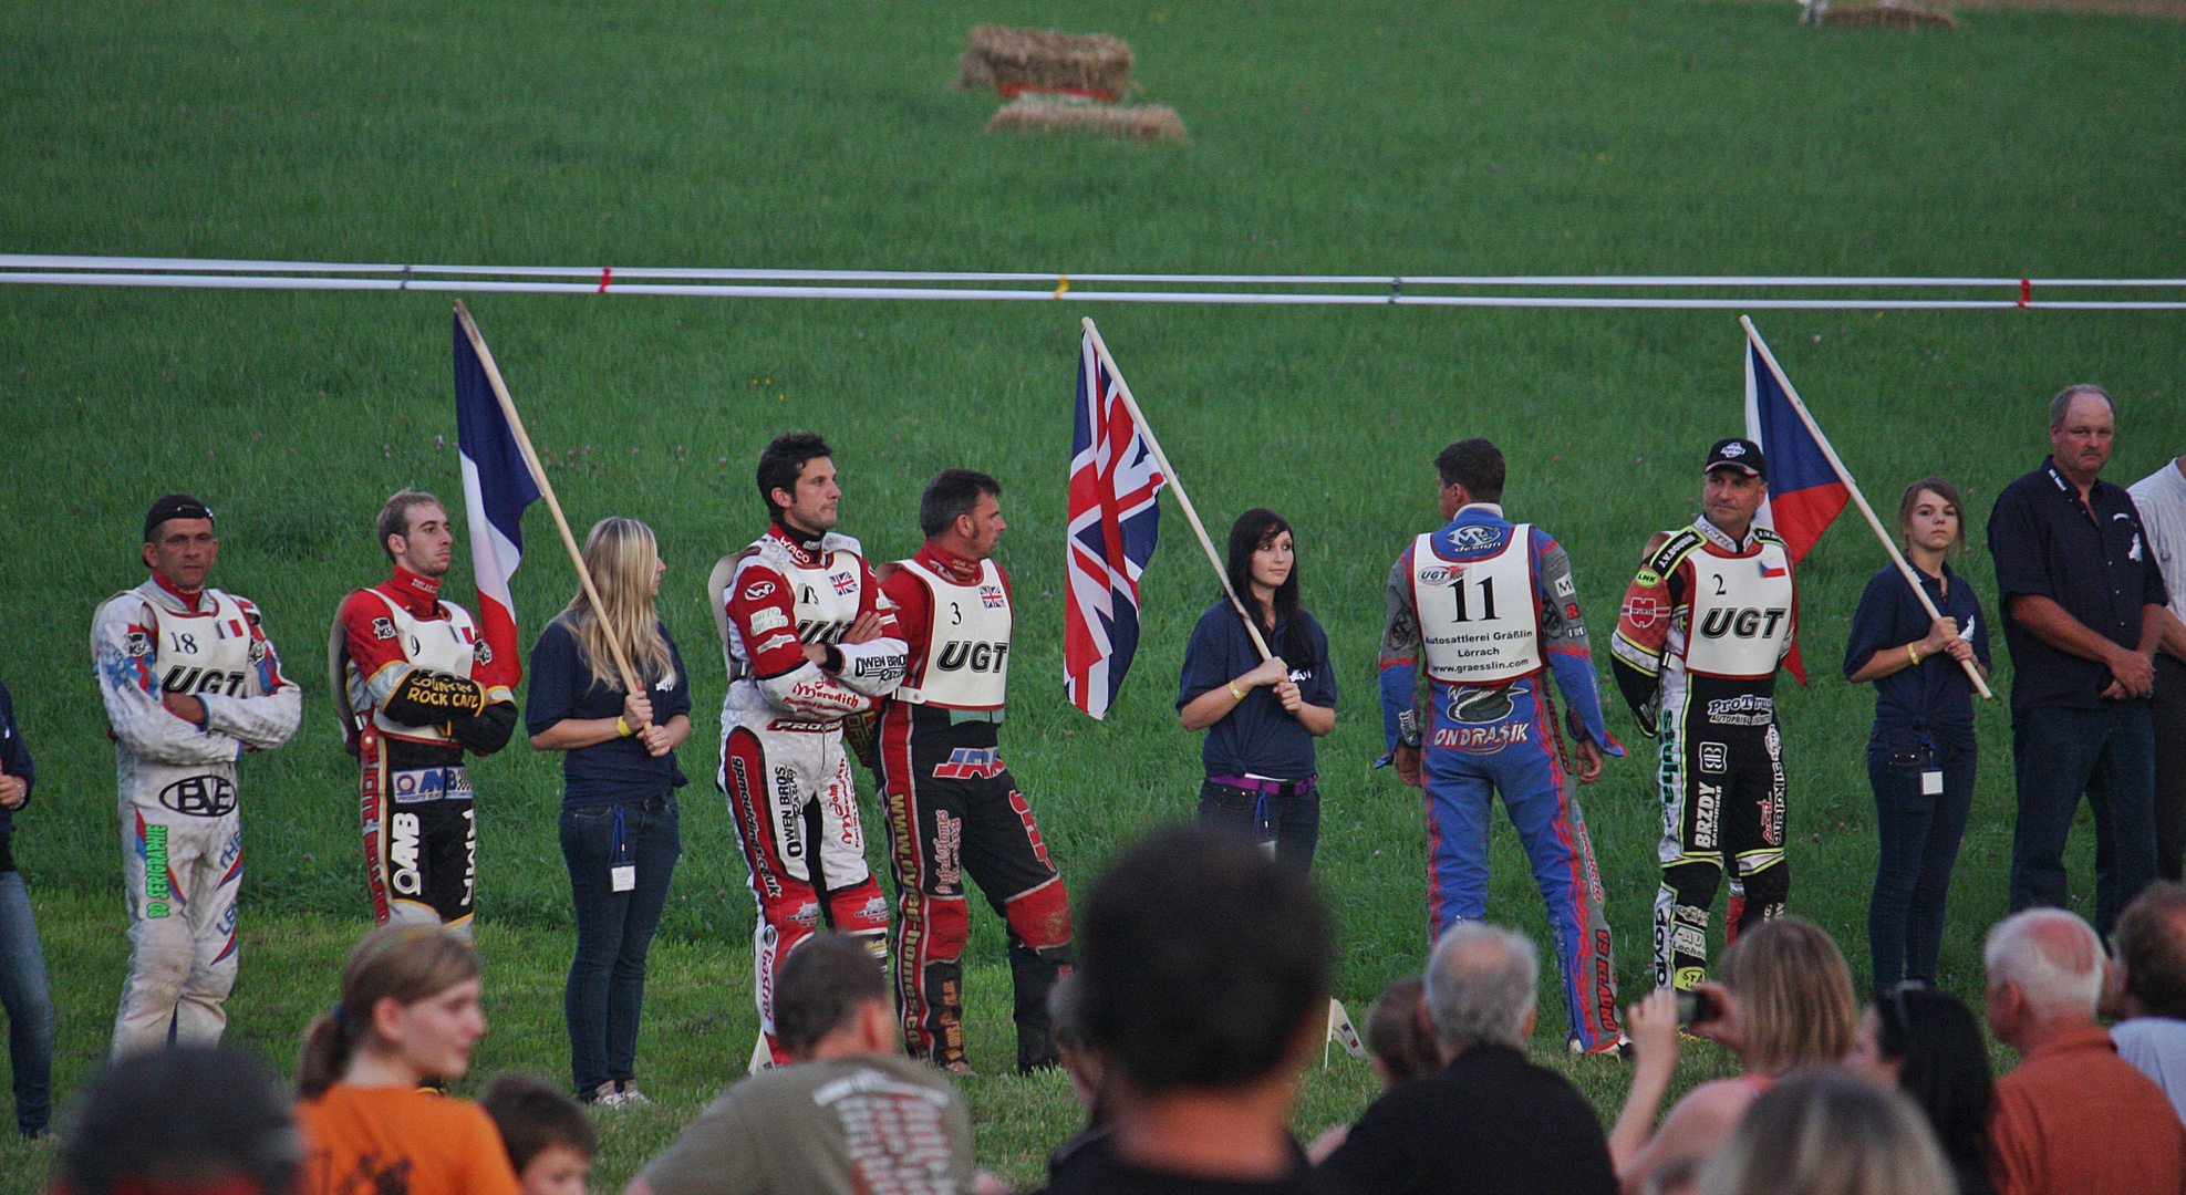
<instances>
[{"instance_id":1,"label":"dark blue jeans of the woman holding the Czech flag","mask_svg":"<svg viewBox=\"0 0 2186 1195\"><path fill-rule=\"evenodd\" d=\"M1867 900L1867 948L1876 990L1904 979L1935 983L1943 953L1943 894L1974 808L1972 747L1915 730L1884 730L1867 745L1876 789L1876 889ZM1943 791L1924 793L1921 773L1941 771Z\"/></svg>"}]
</instances>

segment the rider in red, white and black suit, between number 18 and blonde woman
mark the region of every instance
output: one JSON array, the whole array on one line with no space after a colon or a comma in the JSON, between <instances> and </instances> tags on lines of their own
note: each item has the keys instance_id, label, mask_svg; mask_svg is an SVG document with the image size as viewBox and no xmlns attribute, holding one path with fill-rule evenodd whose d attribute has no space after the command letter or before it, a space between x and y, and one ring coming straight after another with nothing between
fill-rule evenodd
<instances>
[{"instance_id":1,"label":"rider in red, white and black suit, between number 18 and blonde woman","mask_svg":"<svg viewBox=\"0 0 2186 1195\"><path fill-rule=\"evenodd\" d=\"M455 531L439 498L402 489L374 529L393 577L341 603L328 644L348 747L363 767L365 885L378 924L470 937L479 824L463 752L490 756L516 727L516 697L472 679L492 649L470 612L442 601Z\"/></svg>"}]
</instances>

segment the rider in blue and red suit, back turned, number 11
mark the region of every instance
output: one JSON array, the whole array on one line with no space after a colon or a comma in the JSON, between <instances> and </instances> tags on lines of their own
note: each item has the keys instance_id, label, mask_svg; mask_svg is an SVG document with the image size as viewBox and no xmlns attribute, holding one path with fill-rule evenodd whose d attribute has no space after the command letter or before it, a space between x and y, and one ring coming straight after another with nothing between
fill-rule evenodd
<instances>
[{"instance_id":1,"label":"rider in blue and red suit, back turned, number 11","mask_svg":"<svg viewBox=\"0 0 2186 1195\"><path fill-rule=\"evenodd\" d=\"M1489 815L1500 791L1556 931L1572 1051L1613 1051L1622 1042L1615 955L1594 843L1567 780L1591 784L1602 752L1622 756L1624 747L1602 727L1572 561L1539 526L1504 518L1504 459L1493 443L1452 443L1434 468L1449 524L1397 557L1382 636L1384 734L1399 780L1427 791L1434 935L1486 918ZM1421 658L1430 679L1423 723L1414 710ZM1550 673L1570 706L1570 756L1543 686Z\"/></svg>"}]
</instances>

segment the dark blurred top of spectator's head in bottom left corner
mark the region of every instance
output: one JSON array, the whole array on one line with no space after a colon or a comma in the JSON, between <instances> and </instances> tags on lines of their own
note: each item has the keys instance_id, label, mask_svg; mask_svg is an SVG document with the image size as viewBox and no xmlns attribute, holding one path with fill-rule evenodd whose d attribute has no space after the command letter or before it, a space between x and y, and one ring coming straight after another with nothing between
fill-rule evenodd
<instances>
[{"instance_id":1,"label":"dark blurred top of spectator's head in bottom left corner","mask_svg":"<svg viewBox=\"0 0 2186 1195\"><path fill-rule=\"evenodd\" d=\"M240 1051L184 1044L125 1055L92 1081L55 1191L286 1195L299 1160L273 1073Z\"/></svg>"}]
</instances>

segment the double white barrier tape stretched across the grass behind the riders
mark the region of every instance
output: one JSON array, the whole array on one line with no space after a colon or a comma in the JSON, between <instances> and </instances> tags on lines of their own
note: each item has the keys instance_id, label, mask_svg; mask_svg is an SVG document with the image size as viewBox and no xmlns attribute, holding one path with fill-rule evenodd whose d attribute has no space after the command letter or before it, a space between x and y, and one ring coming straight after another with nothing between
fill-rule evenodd
<instances>
[{"instance_id":1,"label":"double white barrier tape stretched across the grass behind the riders","mask_svg":"<svg viewBox=\"0 0 2186 1195\"><path fill-rule=\"evenodd\" d=\"M566 282L562 282L566 280ZM995 288L997 282L1034 286ZM212 291L437 291L527 295L689 295L719 299L931 299L1082 304L1449 306L1449 308L1670 308L1670 310L2186 310L2186 277L1830 277L1830 275L1298 275L1298 273L942 273L665 267L450 267L271 262L223 258L90 258L0 253L0 284L177 286ZM944 284L944 286L936 286ZM984 286L982 286L984 284ZM1100 291L1089 286L1163 286ZM1312 286L1316 291L1235 291ZM1447 295L1421 288L1563 288L1591 295ZM1362 288L1366 288L1362 293ZM1618 295L1685 288L1749 295ZM2005 291L2002 297L1873 295L1768 297L1766 291ZM2175 291L2147 299L2035 299L2035 291ZM1760 291L1758 295L1751 291Z\"/></svg>"}]
</instances>

